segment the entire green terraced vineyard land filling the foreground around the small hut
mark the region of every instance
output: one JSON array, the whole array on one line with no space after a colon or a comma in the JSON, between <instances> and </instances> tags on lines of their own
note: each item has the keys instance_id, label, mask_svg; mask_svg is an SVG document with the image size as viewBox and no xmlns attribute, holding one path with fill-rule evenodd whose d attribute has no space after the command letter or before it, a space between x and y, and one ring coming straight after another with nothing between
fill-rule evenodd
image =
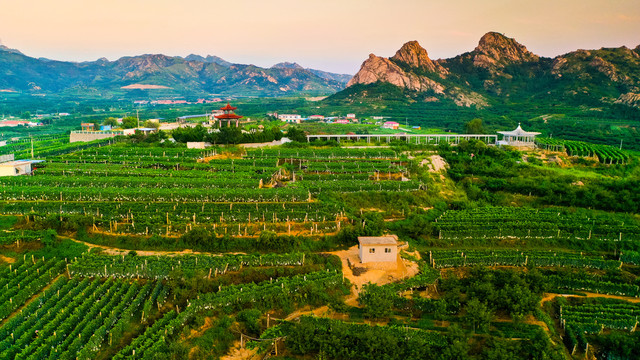
<instances>
[{"instance_id":1,"label":"entire green terraced vineyard land filling the foreground around the small hut","mask_svg":"<svg viewBox=\"0 0 640 360\"><path fill-rule=\"evenodd\" d=\"M46 160L0 177L0 359L568 360L636 336L640 217L500 189L539 172L545 199L613 202L589 179L635 176L632 153L539 139L591 158L549 175L475 141L148 138L2 149ZM357 260L359 237L388 234L399 262Z\"/></svg>"}]
</instances>

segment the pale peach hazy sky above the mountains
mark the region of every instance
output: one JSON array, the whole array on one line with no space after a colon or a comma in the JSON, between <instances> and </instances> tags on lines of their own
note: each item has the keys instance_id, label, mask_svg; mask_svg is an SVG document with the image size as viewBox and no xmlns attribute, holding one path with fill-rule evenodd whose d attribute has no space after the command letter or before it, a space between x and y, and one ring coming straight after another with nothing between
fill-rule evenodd
<instances>
[{"instance_id":1,"label":"pale peach hazy sky above the mountains","mask_svg":"<svg viewBox=\"0 0 640 360\"><path fill-rule=\"evenodd\" d=\"M0 0L0 40L29 56L145 53L350 73L418 40L433 59L498 31L536 54L640 44L640 0Z\"/></svg>"}]
</instances>

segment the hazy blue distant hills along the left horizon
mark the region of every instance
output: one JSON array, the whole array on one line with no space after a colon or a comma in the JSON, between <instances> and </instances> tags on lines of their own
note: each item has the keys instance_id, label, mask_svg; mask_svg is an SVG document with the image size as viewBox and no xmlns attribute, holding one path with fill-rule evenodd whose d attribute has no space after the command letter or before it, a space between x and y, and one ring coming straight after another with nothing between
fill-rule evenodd
<instances>
[{"instance_id":1,"label":"hazy blue distant hills along the left horizon","mask_svg":"<svg viewBox=\"0 0 640 360\"><path fill-rule=\"evenodd\" d=\"M345 87L347 77L302 67L232 64L211 55L181 58L147 54L116 61L102 58L76 63L36 59L0 47L0 89L27 94L100 97L331 94Z\"/></svg>"}]
</instances>

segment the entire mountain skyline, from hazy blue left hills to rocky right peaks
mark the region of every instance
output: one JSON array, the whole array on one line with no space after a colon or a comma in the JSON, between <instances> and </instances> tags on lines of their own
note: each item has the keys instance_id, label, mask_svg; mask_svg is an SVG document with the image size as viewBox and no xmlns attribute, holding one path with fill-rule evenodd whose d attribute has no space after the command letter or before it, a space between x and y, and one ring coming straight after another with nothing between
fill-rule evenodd
<instances>
[{"instance_id":1,"label":"entire mountain skyline, from hazy blue left hills to rocky right peaks","mask_svg":"<svg viewBox=\"0 0 640 360\"><path fill-rule=\"evenodd\" d=\"M396 90L389 91L389 86ZM390 58L369 55L351 77L290 62L262 68L195 54L65 62L36 59L0 45L0 91L101 98L335 93L328 101L347 105L384 101L401 91L408 102L460 107L535 103L639 108L640 46L576 50L548 58L489 32L475 49L449 59L433 60L417 41L409 41Z\"/></svg>"}]
</instances>

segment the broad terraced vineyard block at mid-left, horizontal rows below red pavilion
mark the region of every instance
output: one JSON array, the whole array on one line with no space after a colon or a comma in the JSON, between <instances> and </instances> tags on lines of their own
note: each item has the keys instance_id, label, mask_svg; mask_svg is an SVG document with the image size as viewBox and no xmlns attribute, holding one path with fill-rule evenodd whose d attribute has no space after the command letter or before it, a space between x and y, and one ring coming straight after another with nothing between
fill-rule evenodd
<instances>
[{"instance_id":1,"label":"broad terraced vineyard block at mid-left, horizontal rows below red pavilion","mask_svg":"<svg viewBox=\"0 0 640 360\"><path fill-rule=\"evenodd\" d=\"M204 161L215 153L119 143L50 156L35 176L0 178L0 212L91 216L113 234L183 234L194 226L235 236L318 234L339 230L344 214L317 201L321 193L426 188L388 149L254 149Z\"/></svg>"}]
</instances>

